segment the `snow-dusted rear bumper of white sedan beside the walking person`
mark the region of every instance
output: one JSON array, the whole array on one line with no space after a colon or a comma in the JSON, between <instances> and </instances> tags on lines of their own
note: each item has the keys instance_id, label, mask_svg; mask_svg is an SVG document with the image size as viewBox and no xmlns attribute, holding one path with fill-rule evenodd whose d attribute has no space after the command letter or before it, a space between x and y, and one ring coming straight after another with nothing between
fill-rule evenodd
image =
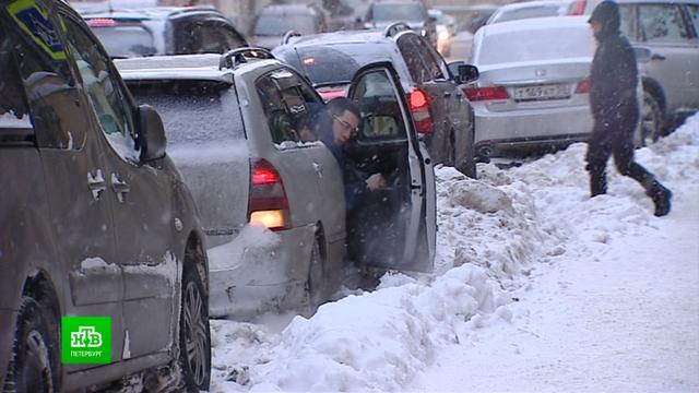
<instances>
[{"instance_id":1,"label":"snow-dusted rear bumper of white sedan beside the walking person","mask_svg":"<svg viewBox=\"0 0 699 393\"><path fill-rule=\"evenodd\" d=\"M589 106L502 112L482 107L474 108L474 122L475 152L482 159L587 141L593 126Z\"/></svg>"}]
</instances>

